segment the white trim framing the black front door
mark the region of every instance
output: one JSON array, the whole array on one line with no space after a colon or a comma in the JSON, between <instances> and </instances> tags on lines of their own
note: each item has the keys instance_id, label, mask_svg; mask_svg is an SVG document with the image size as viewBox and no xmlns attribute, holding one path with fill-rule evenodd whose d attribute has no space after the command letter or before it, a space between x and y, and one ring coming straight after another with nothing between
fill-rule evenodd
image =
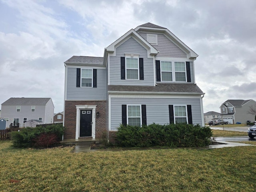
<instances>
[{"instance_id":1,"label":"white trim framing the black front door","mask_svg":"<svg viewBox=\"0 0 256 192\"><path fill-rule=\"evenodd\" d=\"M95 124L96 124L96 106L97 105L76 105L76 139L79 138L80 132L80 110L92 110L92 138L95 139Z\"/></svg>"}]
</instances>

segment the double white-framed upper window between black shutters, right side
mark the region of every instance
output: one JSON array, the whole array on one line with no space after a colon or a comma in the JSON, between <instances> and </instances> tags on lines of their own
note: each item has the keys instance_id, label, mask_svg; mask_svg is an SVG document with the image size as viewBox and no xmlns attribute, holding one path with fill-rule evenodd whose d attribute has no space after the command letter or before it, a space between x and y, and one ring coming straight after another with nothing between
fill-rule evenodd
<instances>
[{"instance_id":1,"label":"double white-framed upper window between black shutters, right side","mask_svg":"<svg viewBox=\"0 0 256 192\"><path fill-rule=\"evenodd\" d=\"M156 70L158 71L158 64L156 63ZM160 78L159 78L160 76ZM186 82L186 63L185 62L160 62L160 74L156 72L158 81L163 82ZM174 77L174 78L173 78ZM188 82L191 82L188 80Z\"/></svg>"}]
</instances>

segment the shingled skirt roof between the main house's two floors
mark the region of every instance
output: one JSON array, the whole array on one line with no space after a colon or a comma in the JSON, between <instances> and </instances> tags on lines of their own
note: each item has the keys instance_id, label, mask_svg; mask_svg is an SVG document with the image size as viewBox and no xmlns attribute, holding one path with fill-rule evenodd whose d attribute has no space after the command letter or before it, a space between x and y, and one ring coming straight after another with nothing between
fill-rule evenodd
<instances>
[{"instance_id":1,"label":"shingled skirt roof between the main house's two floors","mask_svg":"<svg viewBox=\"0 0 256 192\"><path fill-rule=\"evenodd\" d=\"M123 86L109 85L108 91L136 91L136 92L189 92L203 94L202 90L192 83L159 83L156 86Z\"/></svg>"}]
</instances>

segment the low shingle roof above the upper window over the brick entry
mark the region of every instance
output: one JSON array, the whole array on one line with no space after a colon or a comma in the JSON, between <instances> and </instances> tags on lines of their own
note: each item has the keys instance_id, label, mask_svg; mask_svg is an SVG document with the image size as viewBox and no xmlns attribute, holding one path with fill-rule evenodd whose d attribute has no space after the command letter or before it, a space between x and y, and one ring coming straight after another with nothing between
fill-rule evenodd
<instances>
[{"instance_id":1,"label":"low shingle roof above the upper window over the brick entry","mask_svg":"<svg viewBox=\"0 0 256 192\"><path fill-rule=\"evenodd\" d=\"M64 63L67 64L98 64L103 65L103 57L72 56Z\"/></svg>"}]
</instances>

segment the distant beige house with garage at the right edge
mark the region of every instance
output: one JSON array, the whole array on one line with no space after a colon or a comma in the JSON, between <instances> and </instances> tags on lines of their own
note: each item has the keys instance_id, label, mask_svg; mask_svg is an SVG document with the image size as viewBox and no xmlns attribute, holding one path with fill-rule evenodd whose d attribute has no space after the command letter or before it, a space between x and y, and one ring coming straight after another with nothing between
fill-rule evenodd
<instances>
[{"instance_id":1,"label":"distant beige house with garage at the right edge","mask_svg":"<svg viewBox=\"0 0 256 192\"><path fill-rule=\"evenodd\" d=\"M236 124L237 122L246 123L248 120L253 122L255 116L248 114L250 106L254 106L256 102L250 100L226 100L220 106L220 117L224 121L228 121L230 124Z\"/></svg>"}]
</instances>

